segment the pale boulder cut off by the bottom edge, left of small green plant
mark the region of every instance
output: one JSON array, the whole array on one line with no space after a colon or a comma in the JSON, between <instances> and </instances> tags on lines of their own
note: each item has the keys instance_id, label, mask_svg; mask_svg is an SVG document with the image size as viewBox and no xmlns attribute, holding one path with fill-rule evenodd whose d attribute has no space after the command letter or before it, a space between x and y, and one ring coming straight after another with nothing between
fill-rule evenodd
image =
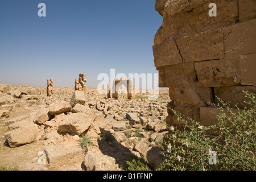
<instances>
[{"instance_id":1,"label":"pale boulder cut off by the bottom edge, left of small green plant","mask_svg":"<svg viewBox=\"0 0 256 182\"><path fill-rule=\"evenodd\" d=\"M114 171L115 159L100 152L88 151L84 158L87 171Z\"/></svg>"}]
</instances>

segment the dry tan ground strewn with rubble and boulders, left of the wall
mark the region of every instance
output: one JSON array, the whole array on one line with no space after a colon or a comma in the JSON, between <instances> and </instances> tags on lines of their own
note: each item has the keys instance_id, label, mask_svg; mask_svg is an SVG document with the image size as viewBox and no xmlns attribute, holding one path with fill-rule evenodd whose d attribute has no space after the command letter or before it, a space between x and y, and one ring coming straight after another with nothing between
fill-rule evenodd
<instances>
[{"instance_id":1,"label":"dry tan ground strewn with rubble and boulders, left of the wall","mask_svg":"<svg viewBox=\"0 0 256 182\"><path fill-rule=\"evenodd\" d=\"M163 158L168 90L157 100L127 94L118 100L82 91L0 85L0 166L19 170L123 170L131 154L152 169ZM86 149L81 142L90 139Z\"/></svg>"}]
</instances>

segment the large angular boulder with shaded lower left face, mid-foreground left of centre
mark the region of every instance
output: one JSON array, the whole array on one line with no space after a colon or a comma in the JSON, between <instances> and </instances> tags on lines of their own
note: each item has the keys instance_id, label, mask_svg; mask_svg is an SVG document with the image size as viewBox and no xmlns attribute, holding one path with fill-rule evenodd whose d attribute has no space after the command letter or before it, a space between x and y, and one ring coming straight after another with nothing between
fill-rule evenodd
<instances>
[{"instance_id":1,"label":"large angular boulder with shaded lower left face, mid-foreground left of centre","mask_svg":"<svg viewBox=\"0 0 256 182\"><path fill-rule=\"evenodd\" d=\"M67 118L59 125L59 131L72 132L77 135L81 135L85 130L87 130L92 124L93 119L85 113L73 113L68 115Z\"/></svg>"}]
</instances>

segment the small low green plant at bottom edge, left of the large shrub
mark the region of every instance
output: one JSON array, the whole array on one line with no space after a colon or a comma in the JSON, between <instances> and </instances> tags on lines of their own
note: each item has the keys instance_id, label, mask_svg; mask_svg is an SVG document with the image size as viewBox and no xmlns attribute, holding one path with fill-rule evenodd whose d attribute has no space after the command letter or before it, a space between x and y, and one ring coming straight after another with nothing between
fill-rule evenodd
<instances>
[{"instance_id":1,"label":"small low green plant at bottom edge, left of the large shrub","mask_svg":"<svg viewBox=\"0 0 256 182\"><path fill-rule=\"evenodd\" d=\"M126 161L127 171L151 171L143 158L138 158L135 155L130 155Z\"/></svg>"}]
</instances>

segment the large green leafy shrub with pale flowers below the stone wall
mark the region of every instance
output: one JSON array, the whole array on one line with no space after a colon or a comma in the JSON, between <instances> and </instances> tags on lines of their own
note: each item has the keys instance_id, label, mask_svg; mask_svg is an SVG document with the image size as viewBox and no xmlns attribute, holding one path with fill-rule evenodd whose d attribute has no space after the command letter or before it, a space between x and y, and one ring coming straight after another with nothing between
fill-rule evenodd
<instances>
[{"instance_id":1,"label":"large green leafy shrub with pale flowers below the stone wall","mask_svg":"<svg viewBox=\"0 0 256 182\"><path fill-rule=\"evenodd\" d=\"M164 142L167 150L162 154L168 159L159 169L172 170L255 170L256 100L254 94L244 92L250 98L251 107L239 109L230 107L224 101L213 105L218 107L218 124L201 126L188 118L189 122L171 109L184 130L167 126L172 133ZM234 111L236 109L236 111ZM212 135L207 130L212 129Z\"/></svg>"}]
</instances>

